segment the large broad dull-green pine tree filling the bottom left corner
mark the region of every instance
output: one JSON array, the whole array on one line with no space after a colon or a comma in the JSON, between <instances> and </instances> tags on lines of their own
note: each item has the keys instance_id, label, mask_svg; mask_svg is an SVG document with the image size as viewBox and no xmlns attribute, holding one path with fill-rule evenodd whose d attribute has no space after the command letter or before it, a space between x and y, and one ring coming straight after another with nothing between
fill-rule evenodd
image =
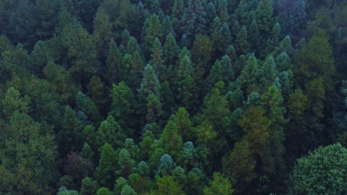
<instances>
[{"instance_id":1,"label":"large broad dull-green pine tree filling the bottom left corner","mask_svg":"<svg viewBox=\"0 0 347 195\"><path fill-rule=\"evenodd\" d=\"M15 111L2 129L1 190L4 193L53 193L57 146L43 124Z\"/></svg>"}]
</instances>

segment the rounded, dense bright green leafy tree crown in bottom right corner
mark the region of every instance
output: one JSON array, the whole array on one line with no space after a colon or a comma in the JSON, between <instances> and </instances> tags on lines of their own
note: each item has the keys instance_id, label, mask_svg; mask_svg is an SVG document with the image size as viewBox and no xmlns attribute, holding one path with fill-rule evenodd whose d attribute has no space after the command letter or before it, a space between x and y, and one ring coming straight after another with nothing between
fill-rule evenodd
<instances>
[{"instance_id":1,"label":"rounded, dense bright green leafy tree crown in bottom right corner","mask_svg":"<svg viewBox=\"0 0 347 195\"><path fill-rule=\"evenodd\" d=\"M344 194L347 150L339 143L300 158L293 171L292 194Z\"/></svg>"}]
</instances>

